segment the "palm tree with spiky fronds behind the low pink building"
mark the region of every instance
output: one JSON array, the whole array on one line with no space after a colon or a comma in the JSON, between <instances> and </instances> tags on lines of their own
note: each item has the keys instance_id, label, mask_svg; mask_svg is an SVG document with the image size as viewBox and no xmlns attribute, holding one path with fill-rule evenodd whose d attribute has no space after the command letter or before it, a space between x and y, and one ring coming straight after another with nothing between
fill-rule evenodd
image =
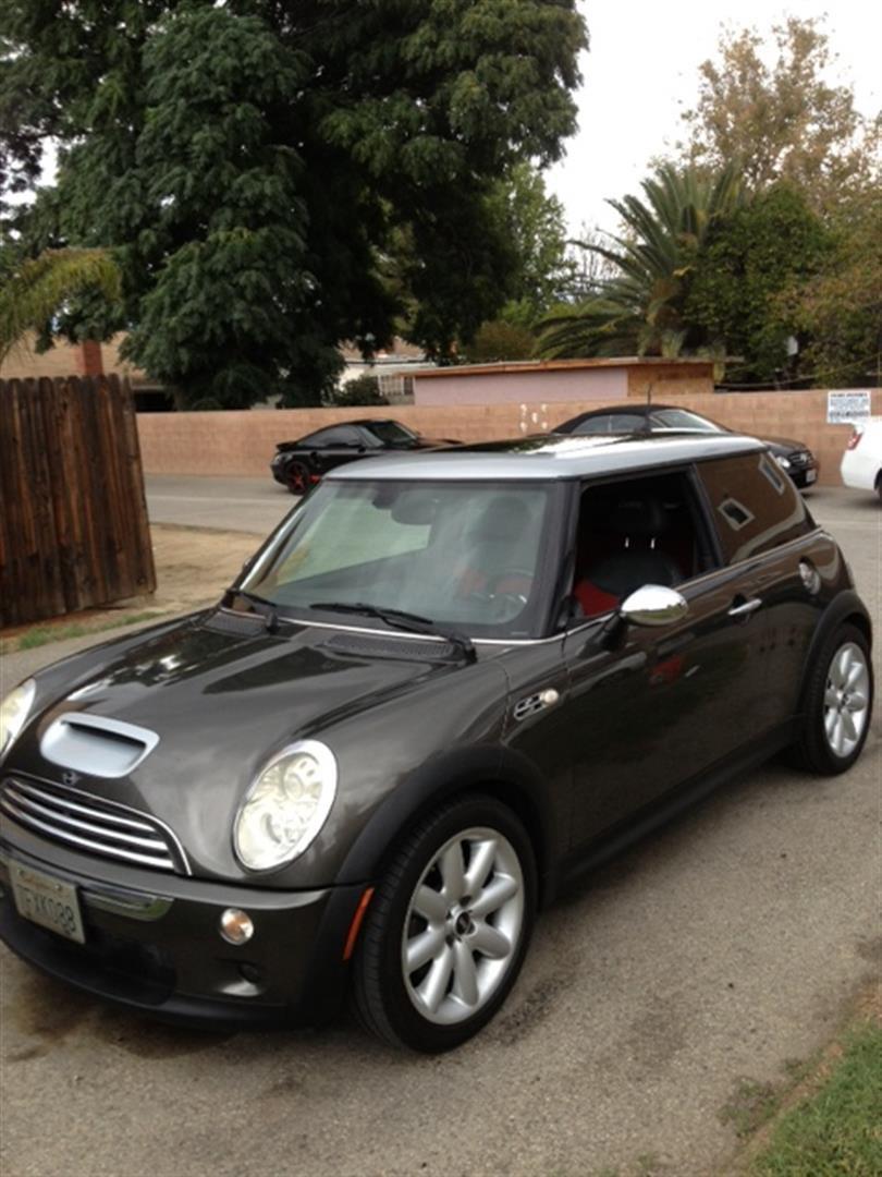
<instances>
[{"instance_id":1,"label":"palm tree with spiky fronds behind the low pink building","mask_svg":"<svg viewBox=\"0 0 882 1177\"><path fill-rule=\"evenodd\" d=\"M742 200L734 167L716 178L662 165L644 198L610 200L624 231L613 247L589 244L614 274L597 294L557 310L540 325L540 351L574 355L679 355L708 341L690 338L683 317L688 278L710 226ZM714 351L713 341L708 351Z\"/></svg>"}]
</instances>

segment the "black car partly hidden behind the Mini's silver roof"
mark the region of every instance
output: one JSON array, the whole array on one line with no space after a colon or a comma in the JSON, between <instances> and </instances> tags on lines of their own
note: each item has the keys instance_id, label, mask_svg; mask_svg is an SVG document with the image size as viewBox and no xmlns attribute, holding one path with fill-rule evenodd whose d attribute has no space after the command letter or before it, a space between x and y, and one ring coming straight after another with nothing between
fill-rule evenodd
<instances>
[{"instance_id":1,"label":"black car partly hidden behind the Mini's silver roof","mask_svg":"<svg viewBox=\"0 0 882 1177\"><path fill-rule=\"evenodd\" d=\"M572 417L556 425L554 433L584 437L595 433L731 433L733 430L676 405L608 405ZM786 470L800 490L817 481L817 459L802 441L790 438L760 438L775 461Z\"/></svg>"}]
</instances>

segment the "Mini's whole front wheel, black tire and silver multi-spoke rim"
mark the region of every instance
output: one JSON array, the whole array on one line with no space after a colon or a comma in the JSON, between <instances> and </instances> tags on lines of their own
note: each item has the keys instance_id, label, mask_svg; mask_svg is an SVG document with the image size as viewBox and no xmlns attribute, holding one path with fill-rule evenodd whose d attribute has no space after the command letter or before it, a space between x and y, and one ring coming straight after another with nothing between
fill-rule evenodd
<instances>
[{"instance_id":1,"label":"Mini's whole front wheel, black tire and silver multi-spoke rim","mask_svg":"<svg viewBox=\"0 0 882 1177\"><path fill-rule=\"evenodd\" d=\"M368 909L354 977L362 1023L427 1052L475 1035L520 972L535 875L530 840L506 805L469 794L435 811L401 845Z\"/></svg>"}]
</instances>

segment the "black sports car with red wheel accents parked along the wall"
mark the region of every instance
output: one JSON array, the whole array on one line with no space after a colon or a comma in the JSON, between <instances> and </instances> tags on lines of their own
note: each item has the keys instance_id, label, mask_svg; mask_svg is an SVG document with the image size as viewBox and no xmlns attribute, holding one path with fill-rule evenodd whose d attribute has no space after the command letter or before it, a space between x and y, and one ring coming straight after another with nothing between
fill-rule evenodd
<instances>
[{"instance_id":1,"label":"black sports car with red wheel accents parked along the wall","mask_svg":"<svg viewBox=\"0 0 882 1177\"><path fill-rule=\"evenodd\" d=\"M375 458L402 450L437 450L448 445L460 443L450 438L421 437L389 418L341 421L307 433L298 441L280 441L269 468L276 483L287 486L292 494L305 494L329 470L356 458Z\"/></svg>"}]
</instances>

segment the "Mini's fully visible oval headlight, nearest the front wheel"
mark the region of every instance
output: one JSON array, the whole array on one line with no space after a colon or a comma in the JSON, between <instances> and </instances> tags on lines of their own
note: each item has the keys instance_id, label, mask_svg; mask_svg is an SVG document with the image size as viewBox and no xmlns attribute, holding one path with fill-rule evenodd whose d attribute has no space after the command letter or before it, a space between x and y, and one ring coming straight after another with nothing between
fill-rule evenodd
<instances>
[{"instance_id":1,"label":"Mini's fully visible oval headlight, nearest the front wheel","mask_svg":"<svg viewBox=\"0 0 882 1177\"><path fill-rule=\"evenodd\" d=\"M268 871L302 855L330 812L336 760L318 740L286 747L261 771L239 810L233 844L249 871Z\"/></svg>"}]
</instances>

